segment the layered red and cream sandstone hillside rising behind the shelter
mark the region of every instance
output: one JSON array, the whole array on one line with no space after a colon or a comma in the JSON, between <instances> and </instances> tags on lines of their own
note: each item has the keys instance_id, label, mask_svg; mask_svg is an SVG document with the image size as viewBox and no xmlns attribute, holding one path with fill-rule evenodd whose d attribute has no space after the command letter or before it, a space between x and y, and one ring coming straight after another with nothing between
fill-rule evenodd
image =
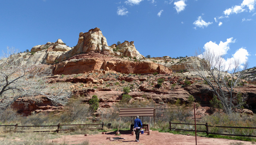
<instances>
[{"instance_id":1,"label":"layered red and cream sandstone hillside rising behind the shelter","mask_svg":"<svg viewBox=\"0 0 256 145\"><path fill-rule=\"evenodd\" d=\"M136 50L133 41L108 46L99 28L81 32L74 47L66 46L58 39L57 42L34 46L30 53L19 55L51 66L53 75L47 77L47 84L65 83L69 86L66 89L70 89L74 97L82 98L85 102L97 95L100 99L98 111L115 106L122 98L124 87L131 89L130 103L137 100L164 105L175 103L178 99L188 103L188 98L193 95L202 106L209 106L209 100L213 97L209 86L201 78L188 76L188 72L178 73L185 70L184 63L199 58L145 58ZM255 74L255 70L248 70L249 73ZM163 81L161 85L159 79ZM185 80L191 85L185 84ZM247 104L255 109L255 86L247 84L236 87L234 93L237 92L246 93ZM33 111L58 113L65 110L62 104L56 107L44 96L36 96L33 100L19 98L12 107L26 115Z\"/></svg>"}]
</instances>

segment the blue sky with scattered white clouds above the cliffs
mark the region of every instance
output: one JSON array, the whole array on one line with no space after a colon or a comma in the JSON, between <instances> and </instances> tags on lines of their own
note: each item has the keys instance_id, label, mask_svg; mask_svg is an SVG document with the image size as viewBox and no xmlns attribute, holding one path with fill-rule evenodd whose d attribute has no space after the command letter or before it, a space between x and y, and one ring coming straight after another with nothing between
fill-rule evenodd
<instances>
[{"instance_id":1,"label":"blue sky with scattered white clouds above the cliffs","mask_svg":"<svg viewBox=\"0 0 256 145\"><path fill-rule=\"evenodd\" d=\"M98 27L108 45L134 41L151 57L212 49L256 66L256 0L0 0L0 49L19 51Z\"/></svg>"}]
</instances>

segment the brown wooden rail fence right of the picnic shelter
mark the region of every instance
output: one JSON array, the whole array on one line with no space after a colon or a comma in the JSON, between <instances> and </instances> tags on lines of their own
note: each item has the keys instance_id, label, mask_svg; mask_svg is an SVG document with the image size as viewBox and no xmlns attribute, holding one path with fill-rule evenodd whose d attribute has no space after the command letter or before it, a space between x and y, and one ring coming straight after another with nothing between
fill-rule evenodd
<instances>
[{"instance_id":1,"label":"brown wooden rail fence right of the picnic shelter","mask_svg":"<svg viewBox=\"0 0 256 145\"><path fill-rule=\"evenodd\" d=\"M190 124L190 123L171 123L170 124L170 131L171 129L175 129L175 130L183 130L183 131L195 131L195 130L188 130L188 129L178 129L178 128L171 128L171 124L185 124L185 125L195 125L195 124ZM219 135L227 135L227 136L244 136L244 137L256 137L256 136L252 136L252 135L241 135L241 134L226 134L226 133L213 133L213 132L209 132L209 127L217 127L217 128L241 128L241 129L256 129L256 127L223 127L223 126L212 126L212 125L208 125L208 123L206 124L196 124L196 125L204 125L206 130L197 130L197 132L205 132L207 135L209 134L219 134Z\"/></svg>"}]
</instances>

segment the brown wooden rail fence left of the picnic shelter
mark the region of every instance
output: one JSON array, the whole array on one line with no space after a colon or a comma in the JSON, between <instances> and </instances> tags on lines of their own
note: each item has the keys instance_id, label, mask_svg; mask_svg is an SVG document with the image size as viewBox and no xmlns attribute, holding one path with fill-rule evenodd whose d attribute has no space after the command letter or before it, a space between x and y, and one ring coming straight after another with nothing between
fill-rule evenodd
<instances>
[{"instance_id":1,"label":"brown wooden rail fence left of the picnic shelter","mask_svg":"<svg viewBox=\"0 0 256 145\"><path fill-rule=\"evenodd\" d=\"M84 129L81 129L81 130L86 130L86 129L103 129L104 127L104 123L102 124L58 124L58 125L31 125L31 126L24 126L24 125L21 125L19 126L18 124L15 124L15 125L0 125L0 127L11 127L13 126L14 129L13 130L2 130L3 132L26 132L26 131L17 131L18 127L57 127L56 130L43 130L43 131L32 131L32 132L59 132L59 131L62 131L62 130L75 130L75 129L61 129L61 126L88 126L88 125L101 125L100 128L84 128Z\"/></svg>"}]
</instances>

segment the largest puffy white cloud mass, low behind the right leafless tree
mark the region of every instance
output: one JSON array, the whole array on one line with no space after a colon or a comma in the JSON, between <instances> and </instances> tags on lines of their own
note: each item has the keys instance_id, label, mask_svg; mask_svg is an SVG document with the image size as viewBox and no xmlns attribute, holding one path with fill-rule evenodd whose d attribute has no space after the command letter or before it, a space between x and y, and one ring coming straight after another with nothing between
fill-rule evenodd
<instances>
[{"instance_id":1,"label":"largest puffy white cloud mass, low behind the right leafless tree","mask_svg":"<svg viewBox=\"0 0 256 145\"><path fill-rule=\"evenodd\" d=\"M235 40L233 40L232 38L228 38L226 42L222 42L220 41L219 44L216 44L216 42L212 42L209 41L207 42L204 46L203 49L205 50L203 52L203 55L206 55L208 52L213 53L214 57L220 57L221 55L225 55L227 54L229 48L230 43L234 43ZM198 57L203 57L203 55L198 55ZM239 61L240 62L240 68L243 68L243 63L245 63L248 59L249 53L246 49L244 49L243 47L236 50L236 53L234 53L232 55L231 58L228 59L223 59L222 61L224 61L224 70L228 69L228 66L230 66L230 70L234 69L234 61ZM213 60L214 61L214 60Z\"/></svg>"}]
</instances>

